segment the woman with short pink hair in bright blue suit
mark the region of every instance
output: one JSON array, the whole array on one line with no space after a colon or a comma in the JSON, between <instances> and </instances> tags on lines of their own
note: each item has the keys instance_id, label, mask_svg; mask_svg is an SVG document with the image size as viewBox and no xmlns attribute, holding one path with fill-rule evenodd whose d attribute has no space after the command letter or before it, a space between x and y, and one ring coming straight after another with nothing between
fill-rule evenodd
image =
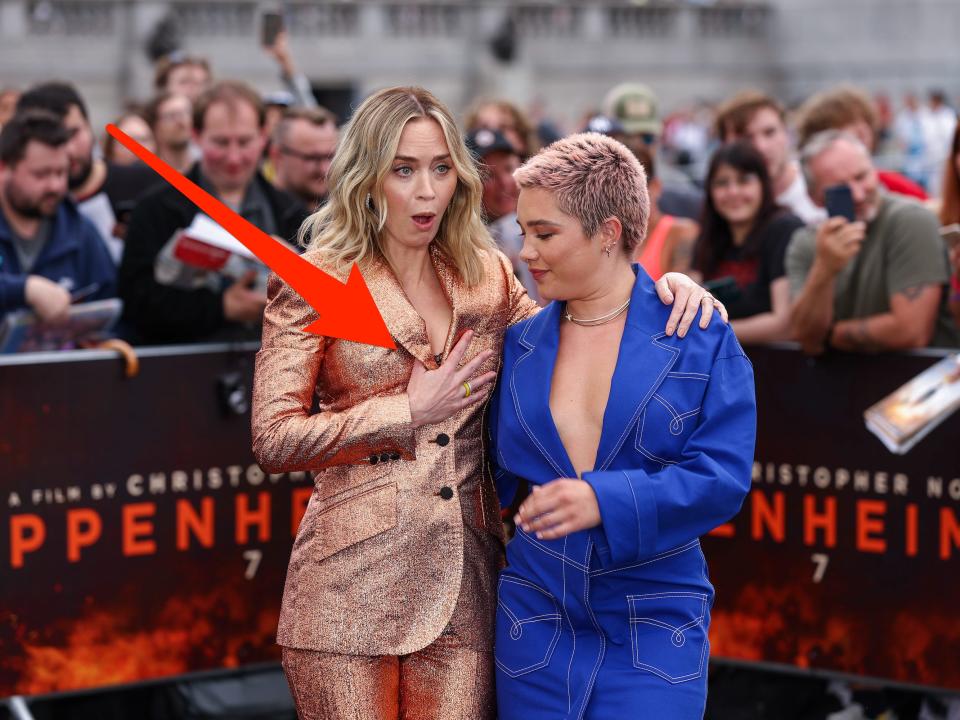
<instances>
[{"instance_id":1,"label":"woman with short pink hair in bright blue suit","mask_svg":"<svg viewBox=\"0 0 960 720\"><path fill-rule=\"evenodd\" d=\"M728 325L683 342L631 265L650 213L617 141L560 140L515 174L544 298L508 328L491 401L502 504L532 492L500 574L501 720L701 717L710 606L699 537L740 509L753 371Z\"/></svg>"}]
</instances>

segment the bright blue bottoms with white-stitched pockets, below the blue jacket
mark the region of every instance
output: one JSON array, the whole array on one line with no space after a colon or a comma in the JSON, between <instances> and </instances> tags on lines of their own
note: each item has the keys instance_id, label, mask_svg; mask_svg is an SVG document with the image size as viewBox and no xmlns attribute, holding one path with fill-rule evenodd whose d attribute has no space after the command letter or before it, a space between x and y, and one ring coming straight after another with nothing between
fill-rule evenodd
<instances>
[{"instance_id":1,"label":"bright blue bottoms with white-stitched pockets, below the blue jacket","mask_svg":"<svg viewBox=\"0 0 960 720\"><path fill-rule=\"evenodd\" d=\"M587 533L518 530L497 602L500 720L694 720L706 705L710 606L698 541L599 569Z\"/></svg>"}]
</instances>

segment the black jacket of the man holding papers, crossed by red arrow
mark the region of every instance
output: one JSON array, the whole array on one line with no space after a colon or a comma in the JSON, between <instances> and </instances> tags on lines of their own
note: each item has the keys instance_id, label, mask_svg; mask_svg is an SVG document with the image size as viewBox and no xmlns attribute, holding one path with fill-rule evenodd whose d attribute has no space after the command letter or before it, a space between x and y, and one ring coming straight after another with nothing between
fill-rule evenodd
<instances>
[{"instance_id":1,"label":"black jacket of the man holding papers, crossed by red arrow","mask_svg":"<svg viewBox=\"0 0 960 720\"><path fill-rule=\"evenodd\" d=\"M193 166L187 178L199 184L199 165ZM278 234L292 240L307 211L259 173L253 181L270 205ZM123 334L135 343L202 342L242 334L242 325L223 316L222 292L182 290L160 285L154 279L160 250L174 232L190 225L198 212L196 205L167 184L145 195L133 210L117 285L124 303Z\"/></svg>"}]
</instances>

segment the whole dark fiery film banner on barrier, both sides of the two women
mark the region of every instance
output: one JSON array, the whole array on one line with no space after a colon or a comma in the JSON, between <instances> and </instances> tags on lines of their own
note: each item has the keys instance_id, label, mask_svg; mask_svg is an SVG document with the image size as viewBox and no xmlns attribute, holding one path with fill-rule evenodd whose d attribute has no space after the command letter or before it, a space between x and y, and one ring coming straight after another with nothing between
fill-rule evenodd
<instances>
[{"instance_id":1,"label":"whole dark fiery film banner on barrier, both sides of the two women","mask_svg":"<svg viewBox=\"0 0 960 720\"><path fill-rule=\"evenodd\" d=\"M960 417L863 411L930 354L750 349L753 491L704 539L714 657L960 689ZM304 473L250 451L253 349L0 360L0 697L275 661Z\"/></svg>"}]
</instances>

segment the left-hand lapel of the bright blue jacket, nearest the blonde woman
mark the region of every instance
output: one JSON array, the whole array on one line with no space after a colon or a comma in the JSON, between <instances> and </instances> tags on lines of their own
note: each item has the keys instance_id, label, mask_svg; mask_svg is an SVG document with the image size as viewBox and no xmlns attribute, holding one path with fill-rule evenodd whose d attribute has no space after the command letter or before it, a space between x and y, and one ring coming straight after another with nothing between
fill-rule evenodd
<instances>
[{"instance_id":1,"label":"left-hand lapel of the bright blue jacket, nearest the blonde woman","mask_svg":"<svg viewBox=\"0 0 960 720\"><path fill-rule=\"evenodd\" d=\"M527 324L520 355L508 378L517 417L530 442L556 471L557 477L576 477L573 463L560 440L550 413L550 384L560 341L559 303L551 303Z\"/></svg>"}]
</instances>

